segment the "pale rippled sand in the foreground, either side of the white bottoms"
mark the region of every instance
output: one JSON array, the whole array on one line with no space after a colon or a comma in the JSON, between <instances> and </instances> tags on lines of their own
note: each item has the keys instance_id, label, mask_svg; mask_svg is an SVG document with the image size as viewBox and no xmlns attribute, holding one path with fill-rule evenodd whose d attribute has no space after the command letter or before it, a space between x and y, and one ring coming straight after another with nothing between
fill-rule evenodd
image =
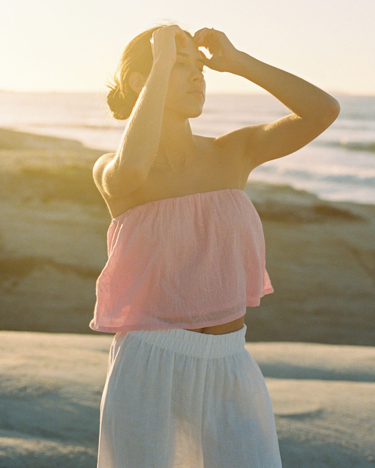
<instances>
[{"instance_id":1,"label":"pale rippled sand in the foreground, either side of the white bottoms","mask_svg":"<svg viewBox=\"0 0 375 468\"><path fill-rule=\"evenodd\" d=\"M94 468L113 335L0 331L0 466ZM283 468L373 467L375 347L247 343Z\"/></svg>"}]
</instances>

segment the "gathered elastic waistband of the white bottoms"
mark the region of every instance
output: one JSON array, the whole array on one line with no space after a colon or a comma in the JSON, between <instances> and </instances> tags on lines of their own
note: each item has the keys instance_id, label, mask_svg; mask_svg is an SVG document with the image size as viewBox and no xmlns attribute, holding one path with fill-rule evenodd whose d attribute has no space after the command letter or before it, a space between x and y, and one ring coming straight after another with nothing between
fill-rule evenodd
<instances>
[{"instance_id":1,"label":"gathered elastic waistband of the white bottoms","mask_svg":"<svg viewBox=\"0 0 375 468\"><path fill-rule=\"evenodd\" d=\"M200 358L221 358L243 351L246 325L232 333L210 335L180 328L132 330L127 333L139 340L182 354Z\"/></svg>"}]
</instances>

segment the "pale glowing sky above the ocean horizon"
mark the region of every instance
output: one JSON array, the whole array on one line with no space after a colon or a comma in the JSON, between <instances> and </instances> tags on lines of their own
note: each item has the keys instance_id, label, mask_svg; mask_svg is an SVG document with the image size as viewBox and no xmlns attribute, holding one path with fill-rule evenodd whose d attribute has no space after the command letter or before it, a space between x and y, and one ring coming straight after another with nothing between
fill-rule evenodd
<instances>
[{"instance_id":1,"label":"pale glowing sky above the ocean horizon","mask_svg":"<svg viewBox=\"0 0 375 468\"><path fill-rule=\"evenodd\" d=\"M192 35L222 31L236 49L333 96L375 95L374 0L5 0L0 90L106 92L125 46L166 21ZM205 80L207 94L268 93L209 68Z\"/></svg>"}]
</instances>

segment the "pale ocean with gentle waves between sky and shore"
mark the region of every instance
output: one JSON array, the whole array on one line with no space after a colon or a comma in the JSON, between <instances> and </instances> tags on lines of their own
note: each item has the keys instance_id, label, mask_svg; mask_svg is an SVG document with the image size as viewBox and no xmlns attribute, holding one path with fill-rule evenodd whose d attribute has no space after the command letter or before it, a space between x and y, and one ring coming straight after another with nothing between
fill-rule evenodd
<instances>
[{"instance_id":1,"label":"pale ocean with gentle waves between sky and shore","mask_svg":"<svg viewBox=\"0 0 375 468\"><path fill-rule=\"evenodd\" d=\"M335 94L336 121L300 150L255 168L248 181L288 184L323 200L375 204L375 96ZM76 139L115 152L126 122L112 117L104 93L0 91L0 127ZM216 137L272 122L291 111L274 96L207 94L193 133Z\"/></svg>"}]
</instances>

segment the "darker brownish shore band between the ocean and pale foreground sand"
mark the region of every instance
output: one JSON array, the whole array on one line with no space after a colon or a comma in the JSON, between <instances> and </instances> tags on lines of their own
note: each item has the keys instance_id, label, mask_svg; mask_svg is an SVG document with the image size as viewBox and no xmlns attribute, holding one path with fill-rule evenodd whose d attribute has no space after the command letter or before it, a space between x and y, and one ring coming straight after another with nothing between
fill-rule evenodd
<instances>
[{"instance_id":1,"label":"darker brownish shore band between the ocean and pale foreground sand","mask_svg":"<svg viewBox=\"0 0 375 468\"><path fill-rule=\"evenodd\" d=\"M111 216L92 167L105 152L0 129L0 329L97 334ZM247 341L374 345L375 205L260 182L245 191L275 290L247 308Z\"/></svg>"}]
</instances>

